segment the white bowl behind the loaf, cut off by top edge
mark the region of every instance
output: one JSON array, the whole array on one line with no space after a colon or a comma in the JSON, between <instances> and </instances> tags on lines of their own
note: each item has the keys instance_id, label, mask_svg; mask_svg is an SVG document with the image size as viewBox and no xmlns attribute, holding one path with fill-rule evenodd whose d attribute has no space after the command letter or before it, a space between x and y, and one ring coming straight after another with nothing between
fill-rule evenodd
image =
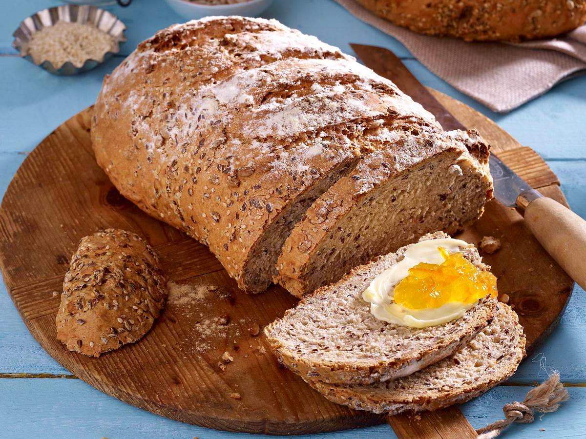
<instances>
[{"instance_id":1,"label":"white bowl behind the loaf, cut off by top edge","mask_svg":"<svg viewBox=\"0 0 586 439\"><path fill-rule=\"evenodd\" d=\"M165 0L183 18L194 20L209 15L244 15L255 17L264 12L273 0L250 0L232 5L200 5L187 0Z\"/></svg>"}]
</instances>

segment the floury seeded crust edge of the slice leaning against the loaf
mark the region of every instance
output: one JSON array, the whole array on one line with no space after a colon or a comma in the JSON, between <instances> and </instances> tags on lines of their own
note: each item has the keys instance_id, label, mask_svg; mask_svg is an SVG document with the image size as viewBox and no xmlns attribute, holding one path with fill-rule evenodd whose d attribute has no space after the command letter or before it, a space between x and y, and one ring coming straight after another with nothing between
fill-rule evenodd
<instances>
[{"instance_id":1,"label":"floury seeded crust edge of the slice leaning against the loaf","mask_svg":"<svg viewBox=\"0 0 586 439\"><path fill-rule=\"evenodd\" d=\"M387 145L386 149L364 157L348 176L339 179L315 201L293 229L278 259L275 283L281 283L292 294L302 297L306 291L290 280L305 275L306 265L315 257L315 249L326 239L330 230L352 212L360 199L372 196L373 188L418 163L451 152L461 160L468 160L492 187L488 168L489 150L488 142L476 130L456 130L428 134L423 138L400 139ZM486 199L490 198L492 190L486 194Z\"/></svg>"}]
</instances>

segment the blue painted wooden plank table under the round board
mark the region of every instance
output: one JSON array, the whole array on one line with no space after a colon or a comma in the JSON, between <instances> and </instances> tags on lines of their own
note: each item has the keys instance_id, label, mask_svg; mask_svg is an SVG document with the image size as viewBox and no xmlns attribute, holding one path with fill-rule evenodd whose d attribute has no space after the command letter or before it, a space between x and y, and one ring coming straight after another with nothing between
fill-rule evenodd
<instances>
[{"instance_id":1,"label":"blue painted wooden plank table under the round board","mask_svg":"<svg viewBox=\"0 0 586 439\"><path fill-rule=\"evenodd\" d=\"M26 155L56 126L93 104L104 74L123 57L114 57L90 73L55 77L25 60L11 47L12 31L54 0L0 0L0 196ZM136 44L183 19L161 0L135 0L130 8L109 8L128 26L128 54ZM316 35L352 53L349 42L393 50L425 85L451 95L494 119L523 145L543 156L561 180L571 207L586 217L586 76L557 85L546 95L506 115L489 111L435 77L393 38L360 22L332 0L280 0L264 14ZM567 311L550 338L537 347L509 382L464 404L474 427L502 417L502 407L522 400L529 386L557 369L571 399L560 411L529 425L511 427L506 437L586 437L586 294L574 290ZM4 283L0 282L0 437L5 438L236 438L225 433L168 420L104 395L56 363L22 323ZM255 436L254 436L255 437ZM393 437L389 426L314 435L313 437Z\"/></svg>"}]
</instances>

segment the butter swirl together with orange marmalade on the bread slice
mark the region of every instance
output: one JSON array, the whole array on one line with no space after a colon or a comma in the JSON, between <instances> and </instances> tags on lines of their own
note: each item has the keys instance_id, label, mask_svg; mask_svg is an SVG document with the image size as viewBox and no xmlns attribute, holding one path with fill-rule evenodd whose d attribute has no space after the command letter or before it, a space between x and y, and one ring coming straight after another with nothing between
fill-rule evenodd
<instances>
[{"instance_id":1,"label":"butter swirl together with orange marmalade on the bread slice","mask_svg":"<svg viewBox=\"0 0 586 439\"><path fill-rule=\"evenodd\" d=\"M389 323L424 328L462 317L487 294L496 297L496 277L461 255L467 246L452 238L411 245L362 293L370 312Z\"/></svg>"}]
</instances>

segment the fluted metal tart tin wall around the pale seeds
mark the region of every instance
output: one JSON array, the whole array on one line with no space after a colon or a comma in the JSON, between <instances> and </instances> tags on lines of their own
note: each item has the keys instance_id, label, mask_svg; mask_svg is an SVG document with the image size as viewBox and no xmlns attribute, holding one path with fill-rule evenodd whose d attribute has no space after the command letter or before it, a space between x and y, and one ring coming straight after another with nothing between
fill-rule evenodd
<instances>
[{"instance_id":1,"label":"fluted metal tart tin wall around the pale seeds","mask_svg":"<svg viewBox=\"0 0 586 439\"><path fill-rule=\"evenodd\" d=\"M67 61L59 68L55 68L48 60L43 60L40 64L36 64L29 54L30 39L35 32L53 26L59 21L81 24L89 23L96 26L96 28L108 33L114 38L114 46L100 59L87 59L81 67L74 66L70 61ZM61 5L55 6L54 8L42 9L22 20L21 25L12 34L14 36L12 46L19 50L23 58L54 75L75 75L83 71L91 70L114 54L119 53L120 45L126 41L126 37L124 36L125 29L126 26L117 16L104 9L90 5Z\"/></svg>"}]
</instances>

